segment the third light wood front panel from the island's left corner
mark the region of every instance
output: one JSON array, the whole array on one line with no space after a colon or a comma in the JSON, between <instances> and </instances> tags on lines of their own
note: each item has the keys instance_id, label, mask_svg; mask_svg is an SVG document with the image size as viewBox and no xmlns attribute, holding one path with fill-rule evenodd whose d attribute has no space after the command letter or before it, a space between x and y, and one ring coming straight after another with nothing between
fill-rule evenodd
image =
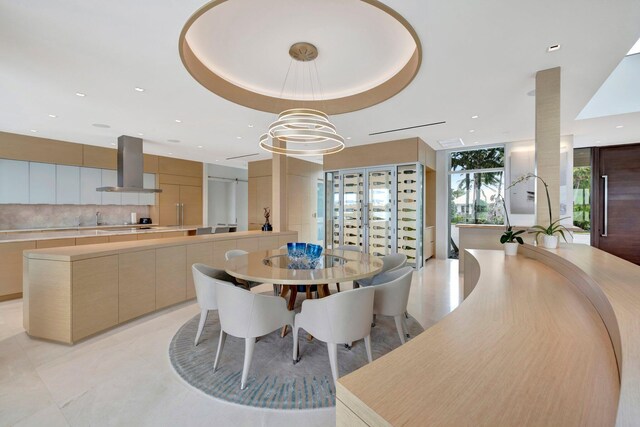
<instances>
[{"instance_id":1,"label":"third light wood front panel from the island's left corner","mask_svg":"<svg viewBox=\"0 0 640 427\"><path fill-rule=\"evenodd\" d=\"M186 265L185 246L156 249L156 309L187 298Z\"/></svg>"}]
</instances>

